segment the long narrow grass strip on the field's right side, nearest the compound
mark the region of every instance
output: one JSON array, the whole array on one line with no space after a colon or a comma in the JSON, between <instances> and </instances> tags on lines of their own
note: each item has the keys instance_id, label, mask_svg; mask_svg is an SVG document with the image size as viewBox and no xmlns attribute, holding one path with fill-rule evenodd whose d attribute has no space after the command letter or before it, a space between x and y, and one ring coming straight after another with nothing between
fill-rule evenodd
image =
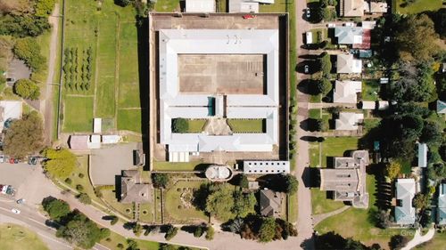
<instances>
[{"instance_id":1,"label":"long narrow grass strip on the field's right side, nearest the compound","mask_svg":"<svg viewBox=\"0 0 446 250\"><path fill-rule=\"evenodd\" d=\"M136 31L136 23L120 23L120 93L118 99L120 109L141 106Z\"/></svg>"}]
</instances>

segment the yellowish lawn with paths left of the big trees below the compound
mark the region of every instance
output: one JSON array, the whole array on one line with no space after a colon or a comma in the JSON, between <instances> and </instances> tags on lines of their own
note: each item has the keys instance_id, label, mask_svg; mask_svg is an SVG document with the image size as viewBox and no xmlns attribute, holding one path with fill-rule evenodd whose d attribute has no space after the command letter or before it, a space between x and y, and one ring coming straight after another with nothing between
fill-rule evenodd
<instances>
[{"instance_id":1,"label":"yellowish lawn with paths left of the big trees below the compound","mask_svg":"<svg viewBox=\"0 0 446 250\"><path fill-rule=\"evenodd\" d=\"M192 206L194 190L205 181L178 181L165 192L164 206L167 222L207 222L208 216ZM181 198L182 197L182 198ZM183 202L184 200L184 202Z\"/></svg>"}]
</instances>

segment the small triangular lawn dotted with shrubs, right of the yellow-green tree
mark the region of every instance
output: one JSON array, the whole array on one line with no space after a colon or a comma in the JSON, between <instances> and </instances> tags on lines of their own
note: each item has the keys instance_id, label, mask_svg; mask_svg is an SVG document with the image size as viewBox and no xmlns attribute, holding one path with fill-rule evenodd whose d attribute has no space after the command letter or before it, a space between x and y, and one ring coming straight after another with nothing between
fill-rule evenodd
<instances>
[{"instance_id":1,"label":"small triangular lawn dotted with shrubs, right of the yellow-green tree","mask_svg":"<svg viewBox=\"0 0 446 250\"><path fill-rule=\"evenodd\" d=\"M80 176L79 176L80 174ZM82 177L83 175L83 177ZM70 186L71 189L76 190L76 186L81 185L83 187L83 190L79 191L82 193L86 193L92 200L97 201L98 203L103 203L100 198L96 198L95 195L95 189L91 185L91 182L88 178L88 157L87 156L81 156L78 157L78 167L76 170L70 174L69 178L71 180L71 183L66 182L65 180L59 180L62 181L65 185Z\"/></svg>"}]
</instances>

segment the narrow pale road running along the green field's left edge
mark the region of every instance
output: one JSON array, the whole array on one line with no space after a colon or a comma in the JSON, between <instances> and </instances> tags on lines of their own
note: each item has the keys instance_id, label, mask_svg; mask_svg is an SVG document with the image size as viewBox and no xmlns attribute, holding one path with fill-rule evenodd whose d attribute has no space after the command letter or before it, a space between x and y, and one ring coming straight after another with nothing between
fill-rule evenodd
<instances>
[{"instance_id":1,"label":"narrow pale road running along the green field's left edge","mask_svg":"<svg viewBox=\"0 0 446 250\"><path fill-rule=\"evenodd\" d=\"M57 59L57 43L58 43L58 33L59 33L59 4L55 4L53 14L48 18L48 22L52 25L51 29L51 40L50 40L50 55L48 58L48 75L46 76L46 87L44 95L44 103L40 106L41 113L45 117L45 144L50 145L52 141L53 134L53 119L54 119L54 109L53 109L53 88L54 85L54 71L55 63Z\"/></svg>"}]
</instances>

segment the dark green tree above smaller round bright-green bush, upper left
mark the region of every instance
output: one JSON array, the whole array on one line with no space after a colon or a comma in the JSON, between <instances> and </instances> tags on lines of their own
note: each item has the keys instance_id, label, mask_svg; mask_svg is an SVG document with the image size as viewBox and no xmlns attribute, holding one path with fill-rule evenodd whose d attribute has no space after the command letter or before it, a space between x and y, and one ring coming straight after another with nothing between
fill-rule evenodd
<instances>
[{"instance_id":1,"label":"dark green tree above smaller round bright-green bush, upper left","mask_svg":"<svg viewBox=\"0 0 446 250\"><path fill-rule=\"evenodd\" d=\"M14 54L29 66L33 71L45 67L45 57L40 54L40 45L35 38L25 37L18 39L13 48Z\"/></svg>"}]
</instances>

